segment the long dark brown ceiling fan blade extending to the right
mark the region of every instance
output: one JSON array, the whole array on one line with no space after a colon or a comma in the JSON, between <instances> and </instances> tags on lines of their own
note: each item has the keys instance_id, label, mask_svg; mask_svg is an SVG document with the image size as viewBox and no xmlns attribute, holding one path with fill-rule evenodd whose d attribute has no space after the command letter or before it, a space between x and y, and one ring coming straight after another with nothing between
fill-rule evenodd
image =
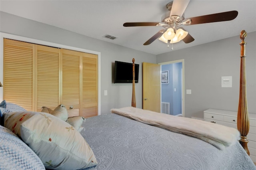
<instances>
[{"instance_id":1,"label":"long dark brown ceiling fan blade extending to the right","mask_svg":"<svg viewBox=\"0 0 256 170\"><path fill-rule=\"evenodd\" d=\"M190 20L192 21L190 25L204 24L204 23L210 23L210 22L230 21L230 20L234 20L237 15L238 15L237 11L228 11L228 12L221 12L221 13L204 15L204 16L196 16L196 17L190 18Z\"/></svg>"}]
</instances>

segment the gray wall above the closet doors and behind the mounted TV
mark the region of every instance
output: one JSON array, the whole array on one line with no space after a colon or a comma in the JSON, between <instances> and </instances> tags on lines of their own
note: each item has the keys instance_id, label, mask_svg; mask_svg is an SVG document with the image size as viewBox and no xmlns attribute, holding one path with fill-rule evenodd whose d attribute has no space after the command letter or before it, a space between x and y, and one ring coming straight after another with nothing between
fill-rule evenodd
<instances>
[{"instance_id":1,"label":"gray wall above the closet doors and behind the mounted TV","mask_svg":"<svg viewBox=\"0 0 256 170\"><path fill-rule=\"evenodd\" d=\"M142 62L156 63L156 55L108 43L68 30L0 12L0 32L58 43L101 53L101 114L110 109L131 106L132 83L112 83L115 60L140 64L139 83L136 83L136 106L142 108ZM108 95L104 96L104 90Z\"/></svg>"}]
</instances>

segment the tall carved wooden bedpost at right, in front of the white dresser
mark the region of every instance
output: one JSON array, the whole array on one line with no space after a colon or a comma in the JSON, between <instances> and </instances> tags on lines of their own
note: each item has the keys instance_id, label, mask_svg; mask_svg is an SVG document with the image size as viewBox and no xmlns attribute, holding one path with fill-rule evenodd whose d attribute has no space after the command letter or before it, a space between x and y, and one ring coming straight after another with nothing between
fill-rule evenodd
<instances>
[{"instance_id":1,"label":"tall carved wooden bedpost at right, in front of the white dresser","mask_svg":"<svg viewBox=\"0 0 256 170\"><path fill-rule=\"evenodd\" d=\"M246 65L245 65L245 45L244 39L246 38L247 33L245 30L242 30L240 33L240 39L242 42L241 45L241 61L240 61L240 90L239 90L239 102L238 102L238 113L237 113L237 129L241 133L241 139L239 140L240 144L243 146L244 150L250 155L250 152L247 147L247 134L249 132L250 122L249 114L247 108L247 97L246 97Z\"/></svg>"}]
</instances>

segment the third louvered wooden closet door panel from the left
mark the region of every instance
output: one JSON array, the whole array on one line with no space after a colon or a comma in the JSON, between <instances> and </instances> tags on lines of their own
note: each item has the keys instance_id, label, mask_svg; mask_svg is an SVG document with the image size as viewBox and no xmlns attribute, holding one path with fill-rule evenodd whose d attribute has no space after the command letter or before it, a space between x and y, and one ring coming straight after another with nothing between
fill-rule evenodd
<instances>
[{"instance_id":1,"label":"third louvered wooden closet door panel from the left","mask_svg":"<svg viewBox=\"0 0 256 170\"><path fill-rule=\"evenodd\" d=\"M61 49L62 55L62 104L68 116L79 116L80 112L80 55L78 51ZM73 109L70 109L73 107Z\"/></svg>"}]
</instances>

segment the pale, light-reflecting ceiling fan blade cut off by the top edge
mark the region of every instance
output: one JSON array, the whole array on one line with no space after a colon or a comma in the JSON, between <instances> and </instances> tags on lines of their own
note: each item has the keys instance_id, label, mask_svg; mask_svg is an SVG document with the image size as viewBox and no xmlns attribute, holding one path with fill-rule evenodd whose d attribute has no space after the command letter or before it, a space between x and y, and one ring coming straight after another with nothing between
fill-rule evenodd
<instances>
[{"instance_id":1,"label":"pale, light-reflecting ceiling fan blade cut off by the top edge","mask_svg":"<svg viewBox=\"0 0 256 170\"><path fill-rule=\"evenodd\" d=\"M171 13L170 16L182 16L182 14L184 13L184 11L186 10L188 3L190 0L174 0L172 2L172 9L171 9Z\"/></svg>"}]
</instances>

